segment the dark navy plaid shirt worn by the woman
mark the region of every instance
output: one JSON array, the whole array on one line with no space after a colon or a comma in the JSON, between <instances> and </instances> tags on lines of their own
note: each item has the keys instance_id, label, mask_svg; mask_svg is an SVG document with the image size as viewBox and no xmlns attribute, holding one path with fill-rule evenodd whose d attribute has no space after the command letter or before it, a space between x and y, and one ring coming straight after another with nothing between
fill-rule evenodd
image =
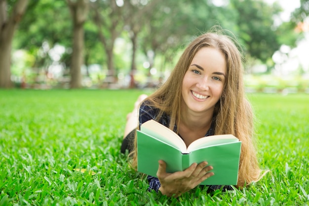
<instances>
[{"instance_id":1,"label":"dark navy plaid shirt worn by the woman","mask_svg":"<svg viewBox=\"0 0 309 206\"><path fill-rule=\"evenodd\" d=\"M147 102L143 102L140 110L139 110L139 123L140 126L141 124L149 121L149 120L155 120L157 118L157 115L159 113L159 110L157 108L151 107L149 105L147 105ZM164 126L169 126L170 123L170 116L168 116L167 114L163 113L162 117L159 118L159 123L163 124ZM176 132L177 130L177 125L174 125L174 132ZM214 121L212 122L209 130L207 131L207 133L205 134L205 136L210 136L210 135L214 135ZM158 180L157 177L154 176L150 176L148 175L147 177L148 182L149 182L149 188L148 191L151 190L155 190L156 192L158 192L161 184ZM217 190L222 188L222 185L208 185L210 189L212 190ZM227 186L223 186L223 191L224 190L231 190L232 187L227 185Z\"/></svg>"}]
</instances>

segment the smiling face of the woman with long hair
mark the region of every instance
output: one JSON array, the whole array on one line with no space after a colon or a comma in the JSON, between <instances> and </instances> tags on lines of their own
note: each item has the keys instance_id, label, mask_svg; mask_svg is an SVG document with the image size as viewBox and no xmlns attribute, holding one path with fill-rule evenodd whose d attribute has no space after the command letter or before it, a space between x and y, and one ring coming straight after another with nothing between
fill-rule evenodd
<instances>
[{"instance_id":1,"label":"smiling face of the woman with long hair","mask_svg":"<svg viewBox=\"0 0 309 206\"><path fill-rule=\"evenodd\" d=\"M211 47L198 50L183 79L182 108L192 112L213 112L226 75L226 60L220 50Z\"/></svg>"}]
</instances>

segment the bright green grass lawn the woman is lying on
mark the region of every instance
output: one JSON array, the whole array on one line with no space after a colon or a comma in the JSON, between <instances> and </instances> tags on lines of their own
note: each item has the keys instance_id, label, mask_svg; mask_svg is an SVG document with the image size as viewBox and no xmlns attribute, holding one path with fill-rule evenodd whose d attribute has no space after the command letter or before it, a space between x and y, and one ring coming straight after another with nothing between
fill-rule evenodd
<instances>
[{"instance_id":1,"label":"bright green grass lawn the woman is lying on","mask_svg":"<svg viewBox=\"0 0 309 206\"><path fill-rule=\"evenodd\" d=\"M0 206L309 205L309 95L250 94L261 166L243 190L147 192L119 154L139 90L0 90ZM84 168L95 175L75 171Z\"/></svg>"}]
</instances>

